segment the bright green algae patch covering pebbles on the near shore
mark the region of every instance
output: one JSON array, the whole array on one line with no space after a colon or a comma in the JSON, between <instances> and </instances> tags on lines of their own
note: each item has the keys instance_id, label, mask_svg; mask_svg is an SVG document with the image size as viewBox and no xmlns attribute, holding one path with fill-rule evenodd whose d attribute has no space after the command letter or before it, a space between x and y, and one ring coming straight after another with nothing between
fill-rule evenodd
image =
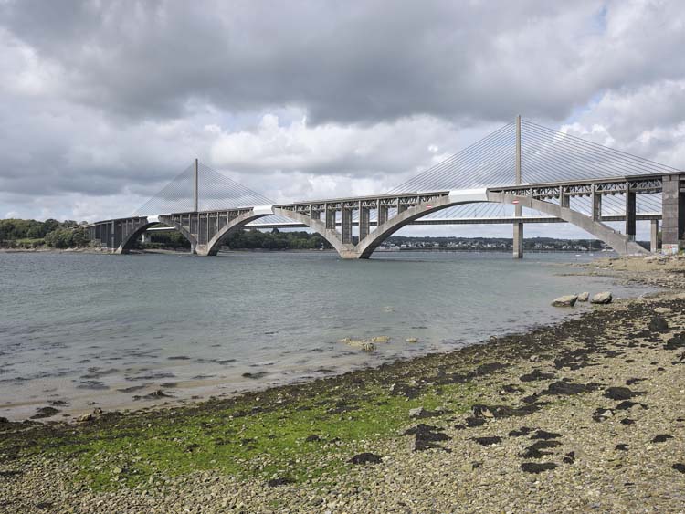
<instances>
[{"instance_id":1,"label":"bright green algae patch covering pebbles on the near shore","mask_svg":"<svg viewBox=\"0 0 685 514\"><path fill-rule=\"evenodd\" d=\"M479 397L472 383L431 387L411 399L379 384L320 384L304 394L286 387L194 407L104 414L59 432L45 427L23 441L20 454L68 460L79 470L75 483L97 490L157 487L165 478L208 469L325 484L351 466L363 441L400 435L411 425L409 409L449 404L463 413ZM15 453L15 444L0 439L0 454Z\"/></svg>"}]
</instances>

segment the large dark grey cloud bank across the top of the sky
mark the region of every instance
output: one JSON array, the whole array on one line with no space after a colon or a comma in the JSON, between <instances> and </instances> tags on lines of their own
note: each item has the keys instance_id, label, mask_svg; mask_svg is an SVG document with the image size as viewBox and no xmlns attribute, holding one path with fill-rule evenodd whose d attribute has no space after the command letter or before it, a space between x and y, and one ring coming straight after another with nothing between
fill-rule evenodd
<instances>
[{"instance_id":1,"label":"large dark grey cloud bank across the top of the sky","mask_svg":"<svg viewBox=\"0 0 685 514\"><path fill-rule=\"evenodd\" d=\"M649 26L663 20L648 13L630 38L602 33L603 13L596 2L29 0L5 5L0 19L65 69L73 100L100 109L175 117L206 100L368 123L518 111L562 120L597 89L682 74L682 59L667 65L663 51L685 42L680 13L666 26Z\"/></svg>"}]
</instances>

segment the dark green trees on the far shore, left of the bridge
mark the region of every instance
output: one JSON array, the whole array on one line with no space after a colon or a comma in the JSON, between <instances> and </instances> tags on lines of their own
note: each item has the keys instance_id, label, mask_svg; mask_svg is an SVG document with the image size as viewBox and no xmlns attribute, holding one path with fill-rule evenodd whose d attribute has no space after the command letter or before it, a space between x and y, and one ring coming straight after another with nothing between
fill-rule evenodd
<instances>
[{"instance_id":1,"label":"dark green trees on the far shore, left of the bridge","mask_svg":"<svg viewBox=\"0 0 685 514\"><path fill-rule=\"evenodd\" d=\"M86 231L73 220L59 222L56 219L36 221L33 219L0 220L0 247L37 248L87 247Z\"/></svg>"}]
</instances>

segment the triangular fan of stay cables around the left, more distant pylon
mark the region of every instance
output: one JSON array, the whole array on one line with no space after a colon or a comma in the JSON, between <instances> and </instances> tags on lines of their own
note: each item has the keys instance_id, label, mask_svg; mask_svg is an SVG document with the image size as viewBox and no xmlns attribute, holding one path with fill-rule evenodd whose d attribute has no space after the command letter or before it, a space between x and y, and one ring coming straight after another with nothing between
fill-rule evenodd
<instances>
[{"instance_id":1,"label":"triangular fan of stay cables around the left, more distant pylon","mask_svg":"<svg viewBox=\"0 0 685 514\"><path fill-rule=\"evenodd\" d=\"M213 211L271 205L266 196L238 184L226 175L199 163L197 167L198 210ZM133 215L166 215L195 210L195 164L188 166Z\"/></svg>"}]
</instances>

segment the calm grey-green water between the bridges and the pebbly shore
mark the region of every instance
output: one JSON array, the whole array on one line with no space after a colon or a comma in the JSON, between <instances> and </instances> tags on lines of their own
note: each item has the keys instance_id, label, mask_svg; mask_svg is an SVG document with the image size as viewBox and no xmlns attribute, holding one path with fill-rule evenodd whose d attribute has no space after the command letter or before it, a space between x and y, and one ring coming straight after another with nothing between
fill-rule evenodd
<instances>
[{"instance_id":1,"label":"calm grey-green water between the bridges and the pebbly shore","mask_svg":"<svg viewBox=\"0 0 685 514\"><path fill-rule=\"evenodd\" d=\"M60 416L229 395L560 320L569 254L0 254L0 416ZM364 353L339 340L387 335ZM416 343L407 338L418 338ZM248 374L249 373L249 374ZM173 398L146 399L162 390ZM141 397L142 398L136 398Z\"/></svg>"}]
</instances>

